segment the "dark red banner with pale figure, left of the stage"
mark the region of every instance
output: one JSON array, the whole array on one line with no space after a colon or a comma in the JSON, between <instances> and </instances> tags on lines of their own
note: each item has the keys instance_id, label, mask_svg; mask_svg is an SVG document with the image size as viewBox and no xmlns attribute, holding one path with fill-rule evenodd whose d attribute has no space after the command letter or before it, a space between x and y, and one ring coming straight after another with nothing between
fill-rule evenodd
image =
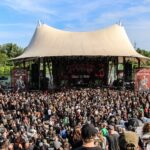
<instances>
[{"instance_id":1,"label":"dark red banner with pale figure, left of the stage","mask_svg":"<svg viewBox=\"0 0 150 150\"><path fill-rule=\"evenodd\" d=\"M12 87L17 91L24 91L28 86L28 71L26 69L12 70Z\"/></svg>"}]
</instances>

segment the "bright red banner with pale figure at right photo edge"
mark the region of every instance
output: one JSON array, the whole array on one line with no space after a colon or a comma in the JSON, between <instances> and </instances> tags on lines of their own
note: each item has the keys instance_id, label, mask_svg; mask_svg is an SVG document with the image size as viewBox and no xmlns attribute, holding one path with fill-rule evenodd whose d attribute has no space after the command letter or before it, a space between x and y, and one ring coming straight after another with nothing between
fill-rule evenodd
<instances>
[{"instance_id":1,"label":"bright red banner with pale figure at right photo edge","mask_svg":"<svg viewBox=\"0 0 150 150\"><path fill-rule=\"evenodd\" d=\"M135 73L135 90L146 91L150 89L150 69L139 69Z\"/></svg>"}]
</instances>

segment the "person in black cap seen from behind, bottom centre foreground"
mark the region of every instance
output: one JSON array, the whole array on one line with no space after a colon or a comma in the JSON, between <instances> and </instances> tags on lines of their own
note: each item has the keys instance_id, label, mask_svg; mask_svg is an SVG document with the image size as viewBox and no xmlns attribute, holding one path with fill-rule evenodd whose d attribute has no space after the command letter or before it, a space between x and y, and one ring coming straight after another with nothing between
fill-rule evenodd
<instances>
[{"instance_id":1,"label":"person in black cap seen from behind, bottom centre foreground","mask_svg":"<svg viewBox=\"0 0 150 150\"><path fill-rule=\"evenodd\" d=\"M81 136L83 140L82 146L73 150L101 150L95 145L95 137L97 130L92 124L85 124L81 129Z\"/></svg>"}]
</instances>

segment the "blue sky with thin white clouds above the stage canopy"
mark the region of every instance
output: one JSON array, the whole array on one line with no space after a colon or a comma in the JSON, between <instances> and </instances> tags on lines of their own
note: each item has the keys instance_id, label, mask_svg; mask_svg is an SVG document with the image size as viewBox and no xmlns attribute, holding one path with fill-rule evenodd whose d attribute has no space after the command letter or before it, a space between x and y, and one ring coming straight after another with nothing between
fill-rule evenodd
<instances>
[{"instance_id":1,"label":"blue sky with thin white clouds above the stage canopy","mask_svg":"<svg viewBox=\"0 0 150 150\"><path fill-rule=\"evenodd\" d=\"M1 0L0 45L26 47L39 20L67 31L121 22L133 46L150 51L150 0Z\"/></svg>"}]
</instances>

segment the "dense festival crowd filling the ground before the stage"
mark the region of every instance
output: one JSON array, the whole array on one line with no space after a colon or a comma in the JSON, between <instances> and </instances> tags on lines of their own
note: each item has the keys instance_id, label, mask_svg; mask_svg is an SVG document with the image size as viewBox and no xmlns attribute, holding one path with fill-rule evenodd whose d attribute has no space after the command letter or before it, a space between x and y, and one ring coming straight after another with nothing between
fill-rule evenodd
<instances>
[{"instance_id":1,"label":"dense festival crowd filling the ground before the stage","mask_svg":"<svg viewBox=\"0 0 150 150\"><path fill-rule=\"evenodd\" d=\"M134 130L144 149L143 137L150 137L148 91L72 88L0 94L3 150L123 150L126 130Z\"/></svg>"}]
</instances>

